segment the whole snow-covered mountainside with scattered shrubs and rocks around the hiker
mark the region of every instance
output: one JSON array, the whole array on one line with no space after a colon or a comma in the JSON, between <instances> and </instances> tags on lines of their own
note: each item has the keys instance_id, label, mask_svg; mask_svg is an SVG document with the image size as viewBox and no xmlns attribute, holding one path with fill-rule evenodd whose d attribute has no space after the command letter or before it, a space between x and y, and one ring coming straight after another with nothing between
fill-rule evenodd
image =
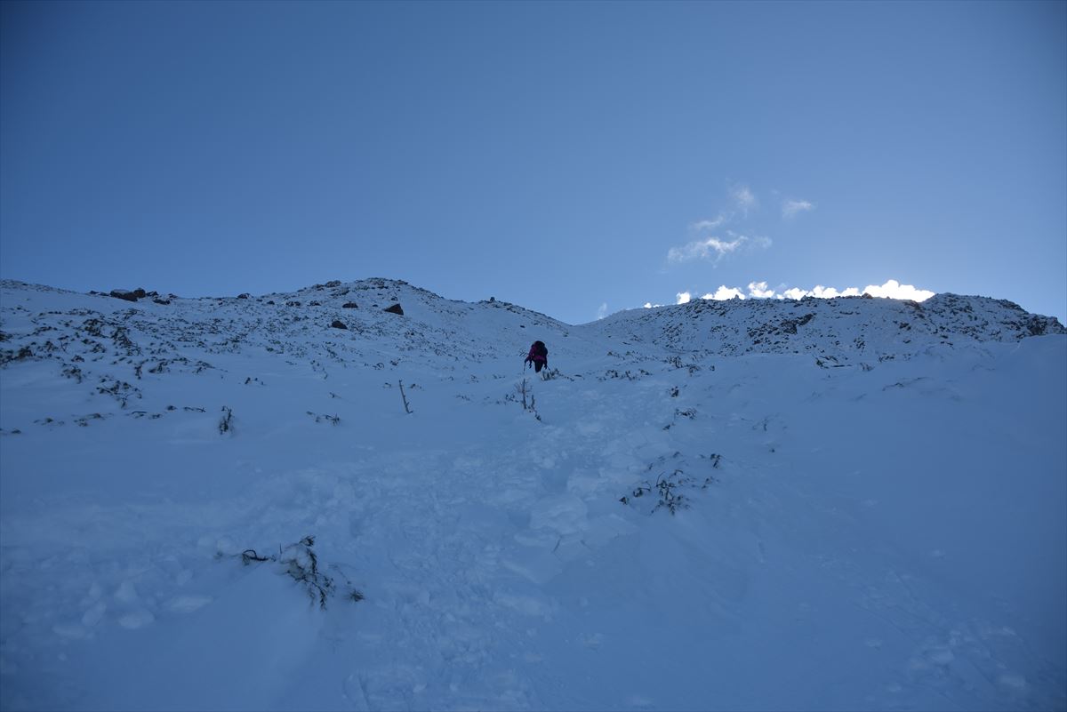
<instances>
[{"instance_id":1,"label":"whole snow-covered mountainside with scattered shrubs and rocks around the hiker","mask_svg":"<svg viewBox=\"0 0 1067 712\"><path fill-rule=\"evenodd\" d=\"M1067 708L1054 320L159 301L0 286L4 710Z\"/></svg>"}]
</instances>

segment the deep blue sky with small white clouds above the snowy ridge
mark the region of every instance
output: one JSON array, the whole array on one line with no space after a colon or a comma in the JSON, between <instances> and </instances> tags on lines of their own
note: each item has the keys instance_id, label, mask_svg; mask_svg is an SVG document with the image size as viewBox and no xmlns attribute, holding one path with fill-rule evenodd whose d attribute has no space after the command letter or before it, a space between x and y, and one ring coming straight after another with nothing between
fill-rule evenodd
<instances>
[{"instance_id":1,"label":"deep blue sky with small white clouds above the snowy ridge","mask_svg":"<svg viewBox=\"0 0 1067 712\"><path fill-rule=\"evenodd\" d=\"M1067 322L1067 3L0 2L0 276ZM751 287L750 287L751 286Z\"/></svg>"}]
</instances>

